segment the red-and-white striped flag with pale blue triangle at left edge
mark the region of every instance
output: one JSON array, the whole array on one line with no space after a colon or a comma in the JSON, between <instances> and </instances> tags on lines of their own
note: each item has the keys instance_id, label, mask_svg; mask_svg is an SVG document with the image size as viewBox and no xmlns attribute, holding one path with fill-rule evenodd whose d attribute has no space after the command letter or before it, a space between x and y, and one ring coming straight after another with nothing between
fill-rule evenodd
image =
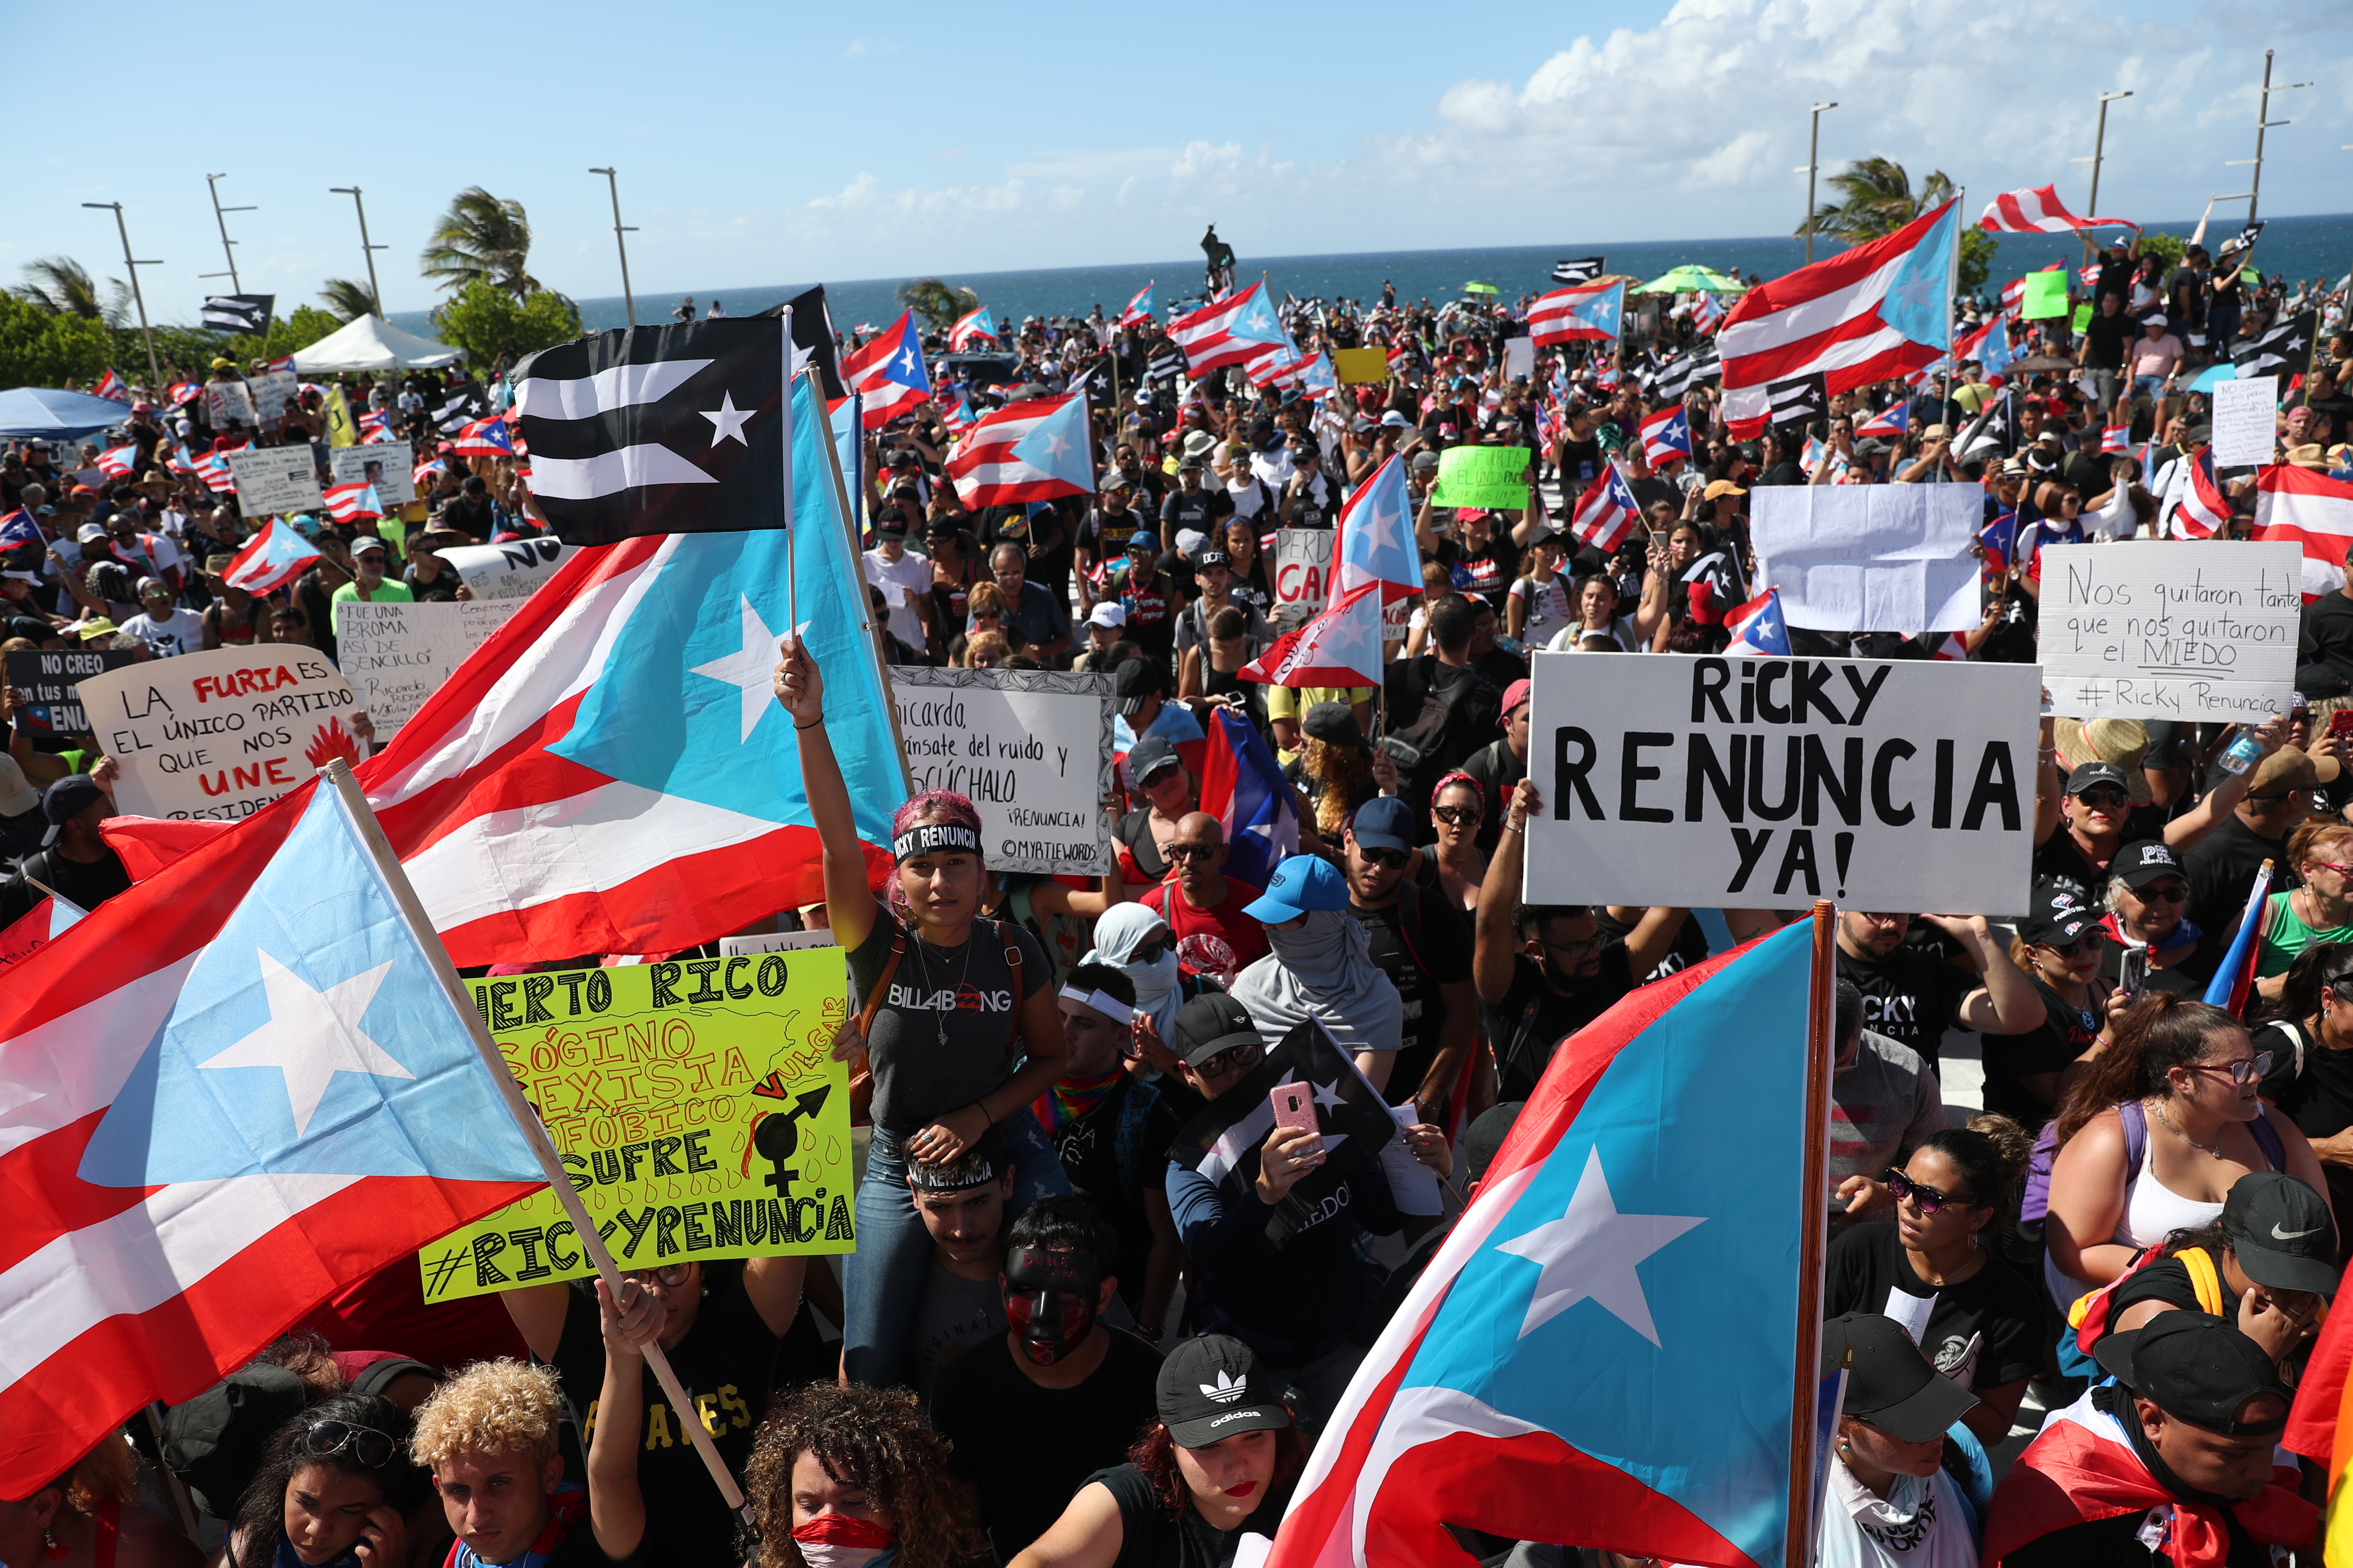
<instances>
[{"instance_id":1,"label":"red-and-white striped flag with pale blue triangle at left edge","mask_svg":"<svg viewBox=\"0 0 2353 1568\"><path fill-rule=\"evenodd\" d=\"M344 797L308 783L0 987L0 1497L544 1187Z\"/></svg>"}]
</instances>

